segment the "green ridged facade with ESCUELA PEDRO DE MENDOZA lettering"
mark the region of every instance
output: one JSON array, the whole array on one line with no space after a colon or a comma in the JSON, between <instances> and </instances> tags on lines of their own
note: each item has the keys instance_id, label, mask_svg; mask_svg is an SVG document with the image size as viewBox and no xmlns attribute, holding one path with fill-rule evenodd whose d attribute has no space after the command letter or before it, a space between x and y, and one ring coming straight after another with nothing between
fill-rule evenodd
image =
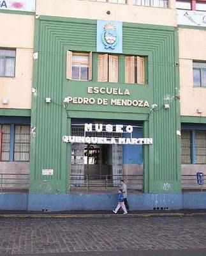
<instances>
[{"instance_id":1,"label":"green ridged facade with ESCUELA PEDRO DE MENDOZA lettering","mask_svg":"<svg viewBox=\"0 0 206 256\"><path fill-rule=\"evenodd\" d=\"M122 52L113 53L111 47L108 52L118 58L117 83L99 81L98 58L107 49L97 51L98 29L98 20L46 16L35 20L29 192L70 193L72 145L63 136L71 135L73 124L91 123L140 127L142 138L151 138L152 143L127 145L123 164L133 164L129 147L139 147L143 192L180 193L177 28L122 22ZM68 52L92 52L87 81L67 79ZM143 83L126 83L126 56L143 56Z\"/></svg>"}]
</instances>

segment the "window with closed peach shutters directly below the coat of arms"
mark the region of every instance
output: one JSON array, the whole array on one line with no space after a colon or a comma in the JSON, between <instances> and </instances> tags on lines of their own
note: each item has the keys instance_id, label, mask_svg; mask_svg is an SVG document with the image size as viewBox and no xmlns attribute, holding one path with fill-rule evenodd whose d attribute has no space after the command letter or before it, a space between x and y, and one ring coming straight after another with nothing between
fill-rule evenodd
<instances>
[{"instance_id":1,"label":"window with closed peach shutters directly below the coat of arms","mask_svg":"<svg viewBox=\"0 0 206 256\"><path fill-rule=\"evenodd\" d=\"M118 83L118 56L98 54L98 82Z\"/></svg>"}]
</instances>

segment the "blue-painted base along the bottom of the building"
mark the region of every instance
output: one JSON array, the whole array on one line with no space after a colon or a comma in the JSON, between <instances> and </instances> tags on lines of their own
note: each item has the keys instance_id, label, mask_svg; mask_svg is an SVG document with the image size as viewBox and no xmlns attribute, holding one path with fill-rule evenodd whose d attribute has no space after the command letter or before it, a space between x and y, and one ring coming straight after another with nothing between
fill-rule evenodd
<instances>
[{"instance_id":1,"label":"blue-painted base along the bottom of the building","mask_svg":"<svg viewBox=\"0 0 206 256\"><path fill-rule=\"evenodd\" d=\"M206 209L206 192L171 194L129 194L131 211ZM1 193L0 210L73 211L112 210L117 204L115 194L24 194Z\"/></svg>"}]
</instances>

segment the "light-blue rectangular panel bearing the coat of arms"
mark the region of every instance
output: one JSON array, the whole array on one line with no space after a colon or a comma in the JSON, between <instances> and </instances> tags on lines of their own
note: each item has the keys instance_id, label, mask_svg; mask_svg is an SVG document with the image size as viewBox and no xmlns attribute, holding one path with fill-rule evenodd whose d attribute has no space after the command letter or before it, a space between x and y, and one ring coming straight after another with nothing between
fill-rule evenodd
<instances>
[{"instance_id":1,"label":"light-blue rectangular panel bearing the coat of arms","mask_svg":"<svg viewBox=\"0 0 206 256\"><path fill-rule=\"evenodd\" d=\"M97 52L122 53L122 22L98 20L96 50Z\"/></svg>"}]
</instances>

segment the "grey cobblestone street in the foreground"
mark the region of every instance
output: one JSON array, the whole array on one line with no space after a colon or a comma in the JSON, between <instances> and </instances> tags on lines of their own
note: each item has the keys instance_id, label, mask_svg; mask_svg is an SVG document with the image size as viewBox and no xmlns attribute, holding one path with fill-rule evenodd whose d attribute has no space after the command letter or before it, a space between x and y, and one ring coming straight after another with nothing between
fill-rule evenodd
<instances>
[{"instance_id":1,"label":"grey cobblestone street in the foreground","mask_svg":"<svg viewBox=\"0 0 206 256\"><path fill-rule=\"evenodd\" d=\"M206 216L0 219L0 255L206 255Z\"/></svg>"}]
</instances>

